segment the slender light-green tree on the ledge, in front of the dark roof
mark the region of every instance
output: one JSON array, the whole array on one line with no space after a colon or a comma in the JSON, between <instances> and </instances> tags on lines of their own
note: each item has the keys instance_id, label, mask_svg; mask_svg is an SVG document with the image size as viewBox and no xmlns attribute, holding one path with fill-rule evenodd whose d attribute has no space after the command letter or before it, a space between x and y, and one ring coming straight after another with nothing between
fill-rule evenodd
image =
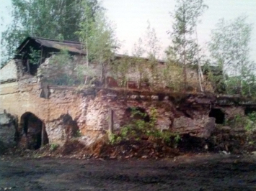
<instances>
[{"instance_id":1,"label":"slender light-green tree on the ledge, in front of the dark roof","mask_svg":"<svg viewBox=\"0 0 256 191\"><path fill-rule=\"evenodd\" d=\"M89 70L89 62L100 65L100 81L104 84L107 66L110 65L115 48L118 47L118 41L112 23L105 17L105 9L97 9L92 15L87 0L84 0L83 5L85 14L77 34L87 52L87 70ZM101 7L100 4L97 7Z\"/></svg>"}]
</instances>

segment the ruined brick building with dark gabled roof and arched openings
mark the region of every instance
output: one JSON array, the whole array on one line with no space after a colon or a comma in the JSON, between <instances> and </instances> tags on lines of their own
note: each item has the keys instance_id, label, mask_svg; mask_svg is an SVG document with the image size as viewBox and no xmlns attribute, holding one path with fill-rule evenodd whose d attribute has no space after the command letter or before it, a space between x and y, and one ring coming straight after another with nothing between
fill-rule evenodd
<instances>
[{"instance_id":1,"label":"ruined brick building with dark gabled roof and arched openings","mask_svg":"<svg viewBox=\"0 0 256 191\"><path fill-rule=\"evenodd\" d=\"M40 50L37 65L29 61L31 47ZM63 49L77 57L84 55L78 42L28 37L17 48L14 59L1 68L0 139L9 136L29 149L38 149L47 143L63 144L79 132L81 141L91 144L107 131L118 130L127 123L131 108L148 114L155 108L158 129L207 138L216 124L223 124L226 118L255 111L255 103L250 100L213 93L138 89L136 80L126 88L118 87L110 77L104 87L43 83L38 68L52 52ZM161 60L159 67L164 67ZM133 72L128 75L130 79L137 76ZM196 75L191 71L191 79L196 80ZM6 113L13 120L6 119Z\"/></svg>"}]
</instances>

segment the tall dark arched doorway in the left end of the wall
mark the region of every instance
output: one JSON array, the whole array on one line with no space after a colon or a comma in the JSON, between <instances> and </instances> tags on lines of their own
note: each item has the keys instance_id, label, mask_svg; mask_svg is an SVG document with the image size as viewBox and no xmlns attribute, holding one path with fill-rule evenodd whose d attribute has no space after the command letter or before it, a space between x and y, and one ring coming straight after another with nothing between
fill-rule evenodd
<instances>
[{"instance_id":1,"label":"tall dark arched doorway in the left end of the wall","mask_svg":"<svg viewBox=\"0 0 256 191\"><path fill-rule=\"evenodd\" d=\"M39 149L40 146L48 144L48 135L45 124L33 113L27 112L22 115L22 132L26 137L27 149Z\"/></svg>"}]
</instances>

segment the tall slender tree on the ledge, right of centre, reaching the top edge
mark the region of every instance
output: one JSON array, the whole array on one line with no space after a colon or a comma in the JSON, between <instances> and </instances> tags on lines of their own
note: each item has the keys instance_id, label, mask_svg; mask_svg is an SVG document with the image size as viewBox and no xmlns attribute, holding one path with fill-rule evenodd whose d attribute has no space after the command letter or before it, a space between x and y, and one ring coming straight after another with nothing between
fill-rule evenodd
<instances>
[{"instance_id":1,"label":"tall slender tree on the ledge, right of centre, reaching the top edge","mask_svg":"<svg viewBox=\"0 0 256 191\"><path fill-rule=\"evenodd\" d=\"M171 56L175 62L182 63L184 90L186 90L187 65L193 65L199 60L196 26L198 18L207 6L203 4L203 0L176 0L176 3L175 13L171 14L174 24L172 32L169 32L172 46L167 50L167 55ZM198 67L200 68L199 62Z\"/></svg>"}]
</instances>

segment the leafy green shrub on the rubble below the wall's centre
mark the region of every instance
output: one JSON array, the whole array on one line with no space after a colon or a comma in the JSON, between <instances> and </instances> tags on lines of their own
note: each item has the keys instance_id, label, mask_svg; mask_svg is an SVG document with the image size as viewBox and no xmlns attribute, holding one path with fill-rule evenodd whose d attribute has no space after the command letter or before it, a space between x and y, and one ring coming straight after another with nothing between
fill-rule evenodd
<instances>
[{"instance_id":1,"label":"leafy green shrub on the rubble below the wall's centre","mask_svg":"<svg viewBox=\"0 0 256 191\"><path fill-rule=\"evenodd\" d=\"M110 144L118 144L120 141L136 140L140 141L144 137L151 137L152 141L160 140L169 146L177 146L180 141L180 135L170 131L161 131L156 129L157 112L151 108L150 121L145 121L147 114L138 111L137 108L131 108L131 122L120 129L117 134L110 134Z\"/></svg>"}]
</instances>

